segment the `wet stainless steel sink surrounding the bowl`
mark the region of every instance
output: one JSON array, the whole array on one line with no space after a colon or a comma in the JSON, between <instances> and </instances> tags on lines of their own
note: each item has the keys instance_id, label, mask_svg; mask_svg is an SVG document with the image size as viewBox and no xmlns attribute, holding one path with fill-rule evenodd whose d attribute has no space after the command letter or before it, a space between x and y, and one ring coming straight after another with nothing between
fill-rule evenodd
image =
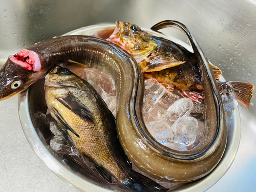
<instances>
[{"instance_id":1,"label":"wet stainless steel sink surrounding the bowl","mask_svg":"<svg viewBox=\"0 0 256 192\"><path fill-rule=\"evenodd\" d=\"M0 64L33 43L73 29L123 20L150 28L161 20L184 23L226 80L256 85L256 2L245 1L14 1L0 4ZM187 41L175 29L163 32ZM255 104L253 104L255 103ZM254 106L255 105L255 106ZM239 105L241 143L233 164L207 191L253 191L256 187L256 99ZM18 120L17 97L0 102L1 191L77 191L37 158Z\"/></svg>"}]
</instances>

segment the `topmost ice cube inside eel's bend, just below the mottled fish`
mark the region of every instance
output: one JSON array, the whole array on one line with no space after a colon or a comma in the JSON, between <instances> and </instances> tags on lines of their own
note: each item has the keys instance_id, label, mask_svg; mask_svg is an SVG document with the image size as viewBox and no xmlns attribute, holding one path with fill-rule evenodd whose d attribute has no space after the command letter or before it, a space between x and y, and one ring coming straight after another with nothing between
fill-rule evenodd
<instances>
[{"instance_id":1,"label":"topmost ice cube inside eel's bend, just below the mottled fish","mask_svg":"<svg viewBox=\"0 0 256 192\"><path fill-rule=\"evenodd\" d=\"M145 80L145 102L152 107L161 99L165 93L165 87L162 86L156 79Z\"/></svg>"}]
</instances>

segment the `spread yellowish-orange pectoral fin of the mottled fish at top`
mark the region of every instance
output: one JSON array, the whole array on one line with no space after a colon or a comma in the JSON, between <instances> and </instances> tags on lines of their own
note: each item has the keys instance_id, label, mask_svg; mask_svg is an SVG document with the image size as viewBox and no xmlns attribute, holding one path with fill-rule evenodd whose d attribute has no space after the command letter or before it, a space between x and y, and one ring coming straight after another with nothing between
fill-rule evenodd
<instances>
[{"instance_id":1,"label":"spread yellowish-orange pectoral fin of the mottled fish at top","mask_svg":"<svg viewBox=\"0 0 256 192\"><path fill-rule=\"evenodd\" d=\"M161 71L166 68L171 68L183 64L185 61L176 60L170 52L152 55L146 59L147 63L142 73ZM149 62L148 62L149 61ZM143 61L142 61L143 62Z\"/></svg>"}]
</instances>

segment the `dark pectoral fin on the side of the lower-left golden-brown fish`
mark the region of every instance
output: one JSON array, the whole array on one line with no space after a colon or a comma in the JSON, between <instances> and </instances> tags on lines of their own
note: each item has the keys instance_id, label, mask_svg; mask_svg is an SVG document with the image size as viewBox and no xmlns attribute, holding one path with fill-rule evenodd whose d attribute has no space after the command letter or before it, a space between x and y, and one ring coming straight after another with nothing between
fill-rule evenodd
<instances>
[{"instance_id":1,"label":"dark pectoral fin on the side of the lower-left golden-brown fish","mask_svg":"<svg viewBox=\"0 0 256 192\"><path fill-rule=\"evenodd\" d=\"M61 98L58 97L56 99L80 118L94 124L93 115L90 110L87 108L87 106L82 104L72 93L69 92L68 95Z\"/></svg>"}]
</instances>

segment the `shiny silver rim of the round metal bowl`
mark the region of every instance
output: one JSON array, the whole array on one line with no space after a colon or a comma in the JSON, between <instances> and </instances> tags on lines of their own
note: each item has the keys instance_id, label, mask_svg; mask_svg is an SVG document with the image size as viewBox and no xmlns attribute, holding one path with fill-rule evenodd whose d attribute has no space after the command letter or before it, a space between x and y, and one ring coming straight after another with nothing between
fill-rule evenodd
<instances>
[{"instance_id":1,"label":"shiny silver rim of the round metal bowl","mask_svg":"<svg viewBox=\"0 0 256 192\"><path fill-rule=\"evenodd\" d=\"M103 23L98 25L92 25L87 26L83 28L79 28L76 30L73 30L71 32L68 32L65 35L78 35L82 34L82 32L87 30L95 30L98 28L106 28L106 27L114 27L115 24L113 23ZM143 30L151 31L152 33L156 33L150 29L143 28ZM156 33L156 35L158 35ZM187 45L185 42L166 35L161 34L160 36L165 36L169 40L172 40L183 47L185 47L187 50L193 52L191 47ZM224 81L225 79L221 77L221 80ZM32 147L35 154L39 157L39 159L51 170L53 174L55 174L58 178L60 178L62 181L65 181L69 185L77 188L81 191L90 191L90 192L111 192L113 190L98 186L96 184L91 183L90 181L87 181L83 179L82 177L74 174L71 172L70 169L65 167L63 164L61 164L54 156L53 154L48 150L47 146L44 145L44 143L40 140L40 137L36 133L33 123L30 117L30 110L29 110L29 103L28 103L28 96L29 96L29 89L24 90L22 93L18 95L18 113L19 113L19 119L20 123L22 124L22 128L24 131L24 134ZM205 191L209 189L212 185L217 183L227 172L229 167L231 166L232 162L234 161L234 158L237 155L237 151L239 148L240 143L240 137L241 137L241 120L240 120L240 114L238 107L234 110L232 115L230 116L232 119L231 125L228 126L228 138L227 138L227 145L224 152L223 157L221 158L221 161L219 164L215 167L214 170L212 170L211 173L209 173L207 176L203 177L202 179L198 181L194 181L191 183L186 183L176 189L170 190L170 191L182 191L182 192L188 192L188 191Z\"/></svg>"}]
</instances>

